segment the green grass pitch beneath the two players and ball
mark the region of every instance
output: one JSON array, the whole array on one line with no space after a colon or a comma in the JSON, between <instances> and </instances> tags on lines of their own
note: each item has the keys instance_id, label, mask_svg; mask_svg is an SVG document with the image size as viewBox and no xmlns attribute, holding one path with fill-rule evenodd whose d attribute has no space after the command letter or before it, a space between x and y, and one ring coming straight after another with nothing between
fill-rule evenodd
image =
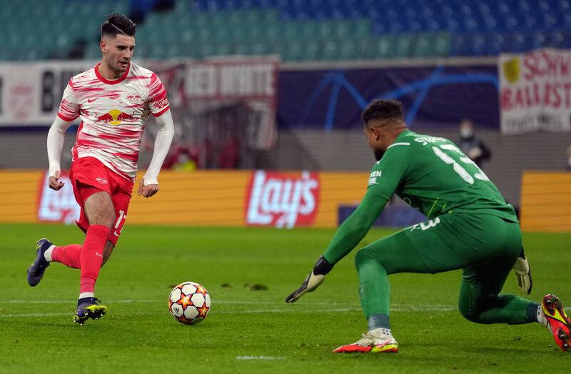
<instances>
[{"instance_id":1,"label":"green grass pitch beneath the two players and ball","mask_svg":"<svg viewBox=\"0 0 571 374\"><path fill-rule=\"evenodd\" d=\"M26 268L38 238L81 243L81 231L59 225L0 226L0 373L505 373L569 368L571 355L555 349L540 325L464 320L455 307L458 271L390 276L398 354L331 354L366 330L355 251L315 293L293 305L284 298L303 281L333 232L126 226L96 288L109 313L79 326L71 321L79 271L55 263L30 288ZM373 230L364 242L387 233ZM535 281L530 298L540 300L552 292L571 303L571 235L533 233L524 242ZM168 313L171 286L183 281L201 283L211 293L211 313L199 325L182 325ZM253 284L268 290L251 290L248 285ZM505 292L521 295L514 276Z\"/></svg>"}]
</instances>

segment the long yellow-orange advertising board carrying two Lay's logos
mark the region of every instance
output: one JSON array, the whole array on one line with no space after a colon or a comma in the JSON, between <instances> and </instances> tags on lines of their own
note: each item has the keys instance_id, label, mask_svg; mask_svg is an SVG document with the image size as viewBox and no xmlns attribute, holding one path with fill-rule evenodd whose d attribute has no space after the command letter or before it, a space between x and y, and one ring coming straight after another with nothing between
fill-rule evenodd
<instances>
[{"instance_id":1,"label":"long yellow-orange advertising board carrying two Lay's logos","mask_svg":"<svg viewBox=\"0 0 571 374\"><path fill-rule=\"evenodd\" d=\"M74 223L79 218L66 173L60 191L47 187L45 171L0 171L0 176L20 187L0 196L0 223ZM143 198L133 191L126 223L333 228L338 207L358 205L367 181L366 172L162 171L155 196Z\"/></svg>"}]
</instances>

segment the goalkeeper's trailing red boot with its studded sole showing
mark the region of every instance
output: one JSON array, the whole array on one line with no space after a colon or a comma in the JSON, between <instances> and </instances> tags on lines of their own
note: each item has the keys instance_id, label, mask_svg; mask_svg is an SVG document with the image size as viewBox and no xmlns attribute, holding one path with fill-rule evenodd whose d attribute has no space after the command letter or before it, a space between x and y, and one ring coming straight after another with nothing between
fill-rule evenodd
<instances>
[{"instance_id":1,"label":"goalkeeper's trailing red boot with its studded sole showing","mask_svg":"<svg viewBox=\"0 0 571 374\"><path fill-rule=\"evenodd\" d=\"M555 343L566 352L571 352L571 320L565 314L563 305L557 296L545 295L541 310L547 319L547 329L553 334Z\"/></svg>"}]
</instances>

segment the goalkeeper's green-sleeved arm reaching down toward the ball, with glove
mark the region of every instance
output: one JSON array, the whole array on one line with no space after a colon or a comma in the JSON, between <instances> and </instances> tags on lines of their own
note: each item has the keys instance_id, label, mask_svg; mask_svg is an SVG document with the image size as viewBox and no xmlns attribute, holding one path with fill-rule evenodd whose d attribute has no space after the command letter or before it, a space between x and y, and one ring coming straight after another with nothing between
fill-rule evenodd
<instances>
[{"instance_id":1,"label":"goalkeeper's green-sleeved arm reaching down toward the ball, with glove","mask_svg":"<svg viewBox=\"0 0 571 374\"><path fill-rule=\"evenodd\" d=\"M358 208L341 224L327 250L319 258L303 284L285 298L294 303L305 293L312 292L325 281L335 263L347 256L363 240L373 226L387 201L393 196L398 184L403 181L407 165L408 150L400 149L385 153L383 161L375 164L371 171L369 186Z\"/></svg>"}]
</instances>

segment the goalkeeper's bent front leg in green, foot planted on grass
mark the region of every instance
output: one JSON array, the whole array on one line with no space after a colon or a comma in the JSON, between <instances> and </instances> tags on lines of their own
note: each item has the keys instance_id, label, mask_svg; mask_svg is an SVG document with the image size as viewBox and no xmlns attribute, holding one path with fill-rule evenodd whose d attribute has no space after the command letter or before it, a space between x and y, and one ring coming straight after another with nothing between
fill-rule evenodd
<instances>
[{"instance_id":1,"label":"goalkeeper's bent front leg in green, foot planted on grass","mask_svg":"<svg viewBox=\"0 0 571 374\"><path fill-rule=\"evenodd\" d=\"M450 213L418 223L357 253L355 265L359 273L360 298L369 332L355 345L370 343L372 338L392 338L389 274L440 273L465 268L490 256L493 248L482 246L485 226L478 219L473 222L466 216ZM474 228L477 232L469 232ZM363 351L363 348L348 345L336 351Z\"/></svg>"}]
</instances>

